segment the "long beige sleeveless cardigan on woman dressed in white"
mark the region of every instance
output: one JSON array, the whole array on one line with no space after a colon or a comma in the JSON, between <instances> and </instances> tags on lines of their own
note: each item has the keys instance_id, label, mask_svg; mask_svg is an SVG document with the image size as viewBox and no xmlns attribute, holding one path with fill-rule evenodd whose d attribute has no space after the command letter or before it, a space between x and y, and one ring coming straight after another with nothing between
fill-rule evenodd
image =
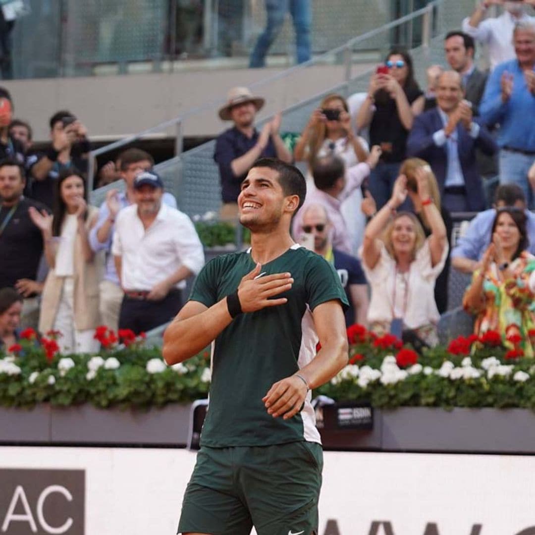
<instances>
[{"instance_id":1,"label":"long beige sleeveless cardigan on woman dressed in white","mask_svg":"<svg viewBox=\"0 0 535 535\"><path fill-rule=\"evenodd\" d=\"M90 221L98 213L98 208L90 206L86 220L89 232ZM91 262L83 259L82 241L77 234L74 241L74 327L77 331L94 329L100 325L98 312L98 284L102 279L104 262L102 254L95 254ZM64 277L56 277L50 269L44 282L39 317L39 331L45 334L54 325L59 302L62 297Z\"/></svg>"}]
</instances>

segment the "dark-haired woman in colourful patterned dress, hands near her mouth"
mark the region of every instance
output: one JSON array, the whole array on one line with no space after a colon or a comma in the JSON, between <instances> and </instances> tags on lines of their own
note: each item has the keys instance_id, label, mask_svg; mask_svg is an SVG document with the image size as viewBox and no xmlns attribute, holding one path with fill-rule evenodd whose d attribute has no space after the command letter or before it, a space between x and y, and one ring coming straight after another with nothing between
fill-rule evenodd
<instances>
[{"instance_id":1,"label":"dark-haired woman in colourful patterned dress, hands near her mouth","mask_svg":"<svg viewBox=\"0 0 535 535\"><path fill-rule=\"evenodd\" d=\"M498 331L509 349L535 356L535 256L526 251L526 215L513 207L500 208L492 226L492 241L481 268L464 294L464 309L476 316L474 333ZM513 341L518 337L518 341Z\"/></svg>"}]
</instances>

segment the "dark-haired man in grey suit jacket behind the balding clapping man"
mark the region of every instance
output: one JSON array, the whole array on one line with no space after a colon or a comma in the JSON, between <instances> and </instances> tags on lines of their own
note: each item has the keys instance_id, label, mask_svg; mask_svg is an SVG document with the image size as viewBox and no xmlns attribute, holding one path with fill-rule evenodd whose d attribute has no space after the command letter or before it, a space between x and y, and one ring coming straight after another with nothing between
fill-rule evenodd
<instances>
[{"instance_id":1,"label":"dark-haired man in grey suit jacket behind the balding clapping man","mask_svg":"<svg viewBox=\"0 0 535 535\"><path fill-rule=\"evenodd\" d=\"M463 32L449 32L444 40L444 53L449 66L461 75L464 98L472 103L472 112L478 115L478 106L483 98L487 74L479 71L473 63L476 43Z\"/></svg>"}]
</instances>

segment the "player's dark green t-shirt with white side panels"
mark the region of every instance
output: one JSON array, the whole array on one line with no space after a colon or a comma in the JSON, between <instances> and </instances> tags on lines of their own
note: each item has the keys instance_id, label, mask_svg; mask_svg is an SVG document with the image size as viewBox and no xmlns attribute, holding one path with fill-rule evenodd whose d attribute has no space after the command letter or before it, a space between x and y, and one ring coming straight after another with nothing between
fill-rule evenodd
<instances>
[{"instance_id":1,"label":"player's dark green t-shirt with white side panels","mask_svg":"<svg viewBox=\"0 0 535 535\"><path fill-rule=\"evenodd\" d=\"M255 267L249 252L222 255L206 264L190 296L211 307L236 291ZM320 442L308 393L303 410L289 420L268 414L262 398L273 383L293 375L316 355L312 311L339 300L347 306L340 277L324 258L298 245L262 266L261 273L289 272L288 302L236 317L212 345L210 404L201 444L267 446L297 440Z\"/></svg>"}]
</instances>

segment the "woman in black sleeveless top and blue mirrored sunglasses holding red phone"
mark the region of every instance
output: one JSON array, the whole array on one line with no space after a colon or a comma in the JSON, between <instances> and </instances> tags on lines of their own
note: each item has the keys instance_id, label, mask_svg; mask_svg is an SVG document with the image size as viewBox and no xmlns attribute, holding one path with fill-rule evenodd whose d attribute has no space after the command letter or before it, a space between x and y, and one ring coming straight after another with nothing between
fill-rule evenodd
<instances>
[{"instance_id":1,"label":"woman in black sleeveless top and blue mirrored sunglasses holding red phone","mask_svg":"<svg viewBox=\"0 0 535 535\"><path fill-rule=\"evenodd\" d=\"M385 72L387 71L387 72ZM390 198L407 137L415 116L422 113L425 97L414 79L412 58L394 48L372 75L368 95L357 113L357 128L370 127L370 143L381 148L381 159L370 175L370 191L378 208Z\"/></svg>"}]
</instances>

